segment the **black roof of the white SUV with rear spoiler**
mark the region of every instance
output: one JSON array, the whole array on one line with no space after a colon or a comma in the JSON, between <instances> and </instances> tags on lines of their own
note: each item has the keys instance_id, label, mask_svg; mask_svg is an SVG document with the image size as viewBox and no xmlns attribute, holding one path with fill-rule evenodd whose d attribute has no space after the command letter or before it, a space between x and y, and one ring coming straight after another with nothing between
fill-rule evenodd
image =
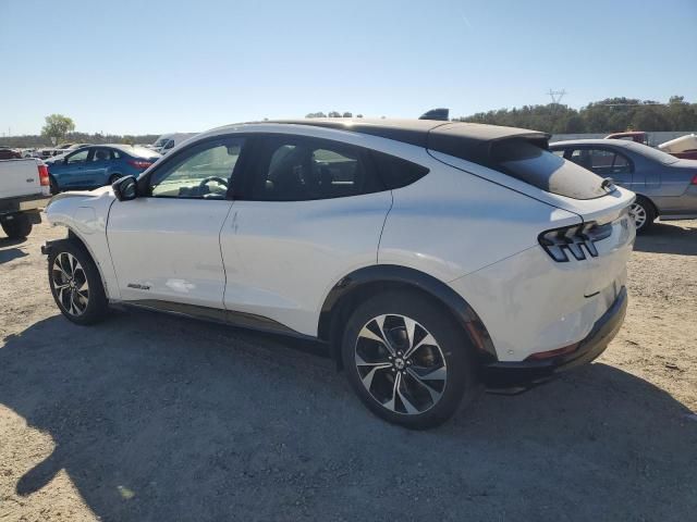
<instances>
[{"instance_id":1,"label":"black roof of the white SUV with rear spoiler","mask_svg":"<svg viewBox=\"0 0 697 522\"><path fill-rule=\"evenodd\" d=\"M259 122L261 123L261 122ZM487 163L491 145L502 139L519 138L547 149L550 135L525 128L484 125L479 123L432 120L369 120L318 117L277 120L264 123L313 125L335 128L416 145L476 163Z\"/></svg>"}]
</instances>

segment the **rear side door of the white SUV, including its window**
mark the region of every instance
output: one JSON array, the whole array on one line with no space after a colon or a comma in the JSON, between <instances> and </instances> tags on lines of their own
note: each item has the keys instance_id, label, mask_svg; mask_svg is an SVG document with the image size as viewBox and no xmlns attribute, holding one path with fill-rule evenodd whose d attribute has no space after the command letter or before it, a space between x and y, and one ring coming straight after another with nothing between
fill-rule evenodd
<instances>
[{"instance_id":1,"label":"rear side door of the white SUV, including its window","mask_svg":"<svg viewBox=\"0 0 697 522\"><path fill-rule=\"evenodd\" d=\"M329 289L377 262L392 196L358 147L293 135L255 147L220 234L224 303L315 335Z\"/></svg>"}]
</instances>

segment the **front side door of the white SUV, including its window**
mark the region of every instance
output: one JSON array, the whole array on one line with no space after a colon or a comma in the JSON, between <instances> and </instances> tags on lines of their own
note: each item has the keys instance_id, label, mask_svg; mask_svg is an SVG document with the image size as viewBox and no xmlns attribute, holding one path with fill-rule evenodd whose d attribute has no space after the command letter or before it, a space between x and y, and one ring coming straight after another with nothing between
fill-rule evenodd
<instances>
[{"instance_id":1,"label":"front side door of the white SUV, including its window","mask_svg":"<svg viewBox=\"0 0 697 522\"><path fill-rule=\"evenodd\" d=\"M138 182L144 192L115 201L107 237L126 301L223 308L220 231L244 138L212 138L180 150Z\"/></svg>"}]
</instances>

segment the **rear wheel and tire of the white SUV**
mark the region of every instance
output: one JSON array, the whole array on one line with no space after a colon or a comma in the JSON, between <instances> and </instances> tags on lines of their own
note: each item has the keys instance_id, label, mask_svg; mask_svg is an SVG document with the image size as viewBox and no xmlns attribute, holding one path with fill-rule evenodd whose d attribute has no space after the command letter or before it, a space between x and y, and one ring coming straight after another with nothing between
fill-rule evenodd
<instances>
[{"instance_id":1,"label":"rear wheel and tire of the white SUV","mask_svg":"<svg viewBox=\"0 0 697 522\"><path fill-rule=\"evenodd\" d=\"M389 343L381 340L386 337ZM412 430L442 424L478 389L464 331L417 293L389 291L359 304L346 324L341 352L364 405L380 419Z\"/></svg>"}]
</instances>

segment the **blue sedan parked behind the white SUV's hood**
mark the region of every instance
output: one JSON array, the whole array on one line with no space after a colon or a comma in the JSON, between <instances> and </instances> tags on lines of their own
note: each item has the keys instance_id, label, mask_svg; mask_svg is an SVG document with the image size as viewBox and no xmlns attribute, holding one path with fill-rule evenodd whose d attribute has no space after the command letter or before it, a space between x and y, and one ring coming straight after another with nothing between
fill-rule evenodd
<instances>
[{"instance_id":1,"label":"blue sedan parked behind the white SUV's hood","mask_svg":"<svg viewBox=\"0 0 697 522\"><path fill-rule=\"evenodd\" d=\"M137 176L161 154L130 145L94 145L48 160L51 192L96 188L123 176Z\"/></svg>"}]
</instances>

